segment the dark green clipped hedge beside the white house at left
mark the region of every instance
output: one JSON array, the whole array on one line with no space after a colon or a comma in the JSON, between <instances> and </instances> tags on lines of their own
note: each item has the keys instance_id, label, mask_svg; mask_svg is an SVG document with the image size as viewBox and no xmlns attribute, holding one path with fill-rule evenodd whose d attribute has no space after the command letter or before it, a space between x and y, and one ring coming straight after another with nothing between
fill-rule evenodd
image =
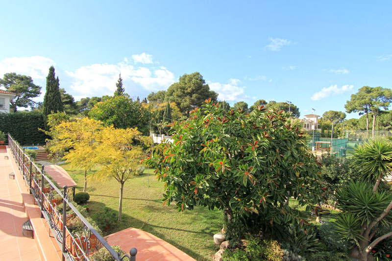
<instances>
[{"instance_id":1,"label":"dark green clipped hedge beside the white house at left","mask_svg":"<svg viewBox=\"0 0 392 261\"><path fill-rule=\"evenodd\" d=\"M11 134L22 145L45 143L49 136L38 128L44 129L44 117L40 112L0 114L0 130Z\"/></svg>"}]
</instances>

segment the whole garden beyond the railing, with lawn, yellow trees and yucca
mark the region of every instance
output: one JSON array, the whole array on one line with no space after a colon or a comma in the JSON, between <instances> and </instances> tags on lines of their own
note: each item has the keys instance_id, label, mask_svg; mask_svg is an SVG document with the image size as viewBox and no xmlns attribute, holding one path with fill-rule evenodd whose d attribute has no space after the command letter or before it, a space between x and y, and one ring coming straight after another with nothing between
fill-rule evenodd
<instances>
[{"instance_id":1,"label":"whole garden beyond the railing, with lawn, yellow trees and yucca","mask_svg":"<svg viewBox=\"0 0 392 261\"><path fill-rule=\"evenodd\" d=\"M156 146L95 119L60 113L49 125L52 152L106 235L135 227L197 260L391 260L390 141L317 159L289 113L211 100ZM220 231L227 241L215 246Z\"/></svg>"}]
</instances>

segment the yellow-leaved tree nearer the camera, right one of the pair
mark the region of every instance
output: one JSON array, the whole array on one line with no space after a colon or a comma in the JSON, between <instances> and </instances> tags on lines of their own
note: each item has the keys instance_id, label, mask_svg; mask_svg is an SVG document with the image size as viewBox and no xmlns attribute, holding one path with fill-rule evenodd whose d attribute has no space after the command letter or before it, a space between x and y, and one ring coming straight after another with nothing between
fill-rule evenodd
<instances>
[{"instance_id":1,"label":"yellow-leaved tree nearer the camera, right one of the pair","mask_svg":"<svg viewBox=\"0 0 392 261\"><path fill-rule=\"evenodd\" d=\"M113 126L102 129L97 137L94 161L101 165L101 169L93 177L98 180L114 178L120 183L118 221L121 221L123 210L124 183L140 166L144 140L137 128L116 129Z\"/></svg>"}]
</instances>

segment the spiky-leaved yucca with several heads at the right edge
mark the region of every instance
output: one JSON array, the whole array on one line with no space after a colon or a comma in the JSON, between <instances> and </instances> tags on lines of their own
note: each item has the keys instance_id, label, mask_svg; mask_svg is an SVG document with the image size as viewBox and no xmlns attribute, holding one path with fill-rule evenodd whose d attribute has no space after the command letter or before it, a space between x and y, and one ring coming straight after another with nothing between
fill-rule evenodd
<instances>
[{"instance_id":1,"label":"spiky-leaved yucca with several heads at the right edge","mask_svg":"<svg viewBox=\"0 0 392 261\"><path fill-rule=\"evenodd\" d=\"M391 174L392 143L371 140L359 146L353 158L363 181L351 182L337 191L337 205L342 210L336 221L337 232L355 242L352 258L368 261L376 252L374 247L392 236L392 193L379 188L382 179Z\"/></svg>"}]
</instances>

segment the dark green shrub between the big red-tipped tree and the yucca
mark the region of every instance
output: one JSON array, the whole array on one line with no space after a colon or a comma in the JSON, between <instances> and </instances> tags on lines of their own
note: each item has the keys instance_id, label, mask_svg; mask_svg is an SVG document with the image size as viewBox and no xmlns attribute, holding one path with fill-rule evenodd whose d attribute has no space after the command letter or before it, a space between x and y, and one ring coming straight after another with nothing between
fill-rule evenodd
<instances>
[{"instance_id":1,"label":"dark green shrub between the big red-tipped tree and the yucca","mask_svg":"<svg viewBox=\"0 0 392 261\"><path fill-rule=\"evenodd\" d=\"M337 158L329 153L323 154L321 159L320 183L327 189L325 196L328 200L335 190L348 186L348 182L357 180L361 171L352 166L354 159Z\"/></svg>"}]
</instances>

